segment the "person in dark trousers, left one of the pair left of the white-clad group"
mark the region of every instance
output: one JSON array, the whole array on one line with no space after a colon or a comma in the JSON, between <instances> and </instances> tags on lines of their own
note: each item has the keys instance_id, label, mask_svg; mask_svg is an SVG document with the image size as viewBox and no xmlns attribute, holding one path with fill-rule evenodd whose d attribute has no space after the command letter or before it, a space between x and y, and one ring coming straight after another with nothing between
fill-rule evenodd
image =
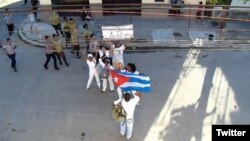
<instances>
[{"instance_id":1,"label":"person in dark trousers, left one of the pair left of the white-clad group","mask_svg":"<svg viewBox=\"0 0 250 141\"><path fill-rule=\"evenodd\" d=\"M52 47L51 45L51 40L50 40L50 37L45 35L44 36L45 38L45 51L46 51L46 62L45 64L43 65L44 68L47 70L48 69L48 63L52 57L53 61L54 61L54 68L55 70L59 70L58 66L57 66L57 61L56 61L56 54L55 54L55 50L54 48Z\"/></svg>"}]
</instances>

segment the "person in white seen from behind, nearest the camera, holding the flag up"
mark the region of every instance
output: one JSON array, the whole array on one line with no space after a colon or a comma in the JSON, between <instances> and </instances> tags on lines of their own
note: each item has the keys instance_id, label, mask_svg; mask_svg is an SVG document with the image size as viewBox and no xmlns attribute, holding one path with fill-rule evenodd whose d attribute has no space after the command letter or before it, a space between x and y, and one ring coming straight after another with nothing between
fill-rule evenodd
<instances>
[{"instance_id":1,"label":"person in white seen from behind, nearest the camera, holding the flag up","mask_svg":"<svg viewBox=\"0 0 250 141\"><path fill-rule=\"evenodd\" d=\"M125 93L124 98L121 101L121 105L126 112L126 120L120 122L120 134L122 136L126 133L126 138L129 140L133 134L133 125L134 125L134 111L136 104L141 99L141 93L132 91L133 98L131 98L130 93Z\"/></svg>"}]
</instances>

